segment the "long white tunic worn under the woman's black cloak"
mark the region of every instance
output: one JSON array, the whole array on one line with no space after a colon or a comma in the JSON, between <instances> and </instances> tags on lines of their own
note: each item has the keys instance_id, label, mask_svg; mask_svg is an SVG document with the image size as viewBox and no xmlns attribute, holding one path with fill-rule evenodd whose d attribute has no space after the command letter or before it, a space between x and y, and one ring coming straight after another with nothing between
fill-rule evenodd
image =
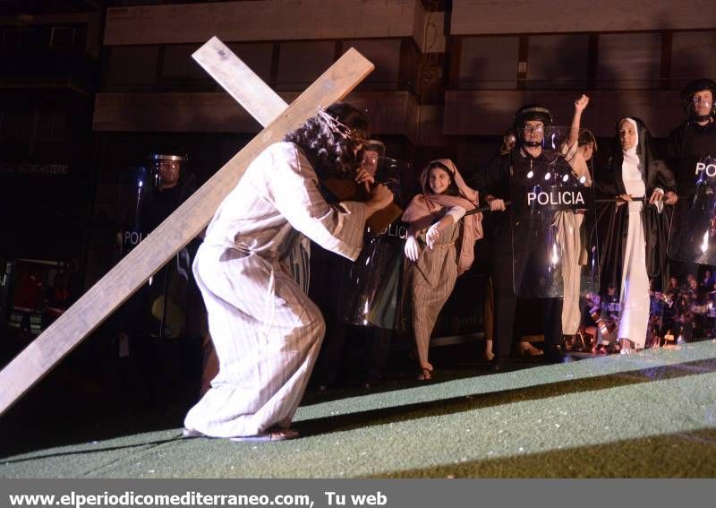
<instances>
[{"instance_id":1,"label":"long white tunic worn under the woman's black cloak","mask_svg":"<svg viewBox=\"0 0 716 508\"><path fill-rule=\"evenodd\" d=\"M626 194L643 196L644 180L635 164L624 161L622 179ZM626 234L624 269L621 279L621 316L619 339L635 343L636 349L644 349L646 329L649 324L649 275L646 272L646 239L642 225L643 202L628 202L629 229Z\"/></svg>"}]
</instances>

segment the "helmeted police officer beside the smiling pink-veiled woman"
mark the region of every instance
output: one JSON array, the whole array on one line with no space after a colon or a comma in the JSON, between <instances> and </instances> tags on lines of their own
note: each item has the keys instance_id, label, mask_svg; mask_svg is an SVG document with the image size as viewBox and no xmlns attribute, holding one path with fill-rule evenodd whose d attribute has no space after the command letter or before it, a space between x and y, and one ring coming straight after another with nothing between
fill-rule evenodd
<instances>
[{"instance_id":1,"label":"helmeted police officer beside the smiling pink-veiled woman","mask_svg":"<svg viewBox=\"0 0 716 508\"><path fill-rule=\"evenodd\" d=\"M468 185L478 189L490 210L495 211L488 234L490 242L491 276L494 287L494 346L495 357L491 370L501 370L509 363L514 330L517 296L514 290L513 245L510 214L505 211L505 201L510 196L510 185L523 185L532 180L543 182L545 177L569 176L571 168L555 151L543 148L545 129L552 125L552 115L547 108L525 106L515 114L514 132L516 144L501 151L494 159L471 177ZM502 211L502 212L499 212ZM515 245L516 249L529 249L529 245ZM561 361L558 348L562 340L562 299L541 299L544 317L544 358Z\"/></svg>"}]
</instances>

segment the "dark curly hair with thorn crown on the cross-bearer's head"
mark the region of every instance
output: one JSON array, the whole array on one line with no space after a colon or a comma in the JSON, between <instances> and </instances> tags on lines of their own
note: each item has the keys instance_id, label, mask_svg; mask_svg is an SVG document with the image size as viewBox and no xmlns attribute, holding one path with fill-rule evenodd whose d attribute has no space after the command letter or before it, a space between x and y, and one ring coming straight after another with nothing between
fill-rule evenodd
<instances>
[{"instance_id":1,"label":"dark curly hair with thorn crown on the cross-bearer's head","mask_svg":"<svg viewBox=\"0 0 716 508\"><path fill-rule=\"evenodd\" d=\"M337 120L328 121L325 116ZM343 127L348 127L348 130ZM298 145L311 160L320 178L341 177L354 172L356 143L368 138L368 120L361 111L345 102L336 102L324 114L313 116L284 137Z\"/></svg>"}]
</instances>

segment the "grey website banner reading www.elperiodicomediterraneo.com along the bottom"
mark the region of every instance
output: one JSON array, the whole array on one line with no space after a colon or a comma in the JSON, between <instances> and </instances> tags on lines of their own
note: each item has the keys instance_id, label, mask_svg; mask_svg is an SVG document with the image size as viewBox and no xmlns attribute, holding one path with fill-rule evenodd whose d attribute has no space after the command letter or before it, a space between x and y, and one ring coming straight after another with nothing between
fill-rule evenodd
<instances>
[{"instance_id":1,"label":"grey website banner reading www.elperiodicomediterraneo.com along the bottom","mask_svg":"<svg viewBox=\"0 0 716 508\"><path fill-rule=\"evenodd\" d=\"M0 480L2 508L673 508L714 498L712 479Z\"/></svg>"}]
</instances>

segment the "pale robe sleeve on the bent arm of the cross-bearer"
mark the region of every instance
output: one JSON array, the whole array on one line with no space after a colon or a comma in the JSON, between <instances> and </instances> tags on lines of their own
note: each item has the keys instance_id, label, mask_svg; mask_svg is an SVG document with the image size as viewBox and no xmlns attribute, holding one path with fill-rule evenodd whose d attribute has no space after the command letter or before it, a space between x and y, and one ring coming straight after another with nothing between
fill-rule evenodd
<instances>
[{"instance_id":1,"label":"pale robe sleeve on the bent arm of the cross-bearer","mask_svg":"<svg viewBox=\"0 0 716 508\"><path fill-rule=\"evenodd\" d=\"M291 225L323 248L355 260L361 252L365 228L365 204L331 205L319 190L311 163L294 145L284 144L272 158L268 174L268 199Z\"/></svg>"}]
</instances>

